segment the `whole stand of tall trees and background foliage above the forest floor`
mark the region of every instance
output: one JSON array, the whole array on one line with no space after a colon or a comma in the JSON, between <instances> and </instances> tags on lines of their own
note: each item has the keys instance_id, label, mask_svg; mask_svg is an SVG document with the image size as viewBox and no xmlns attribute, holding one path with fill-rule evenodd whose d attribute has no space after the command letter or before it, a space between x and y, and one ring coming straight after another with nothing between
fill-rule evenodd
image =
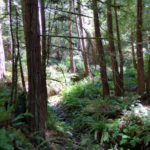
<instances>
[{"instance_id":1,"label":"whole stand of tall trees and background foliage above the forest floor","mask_svg":"<svg viewBox=\"0 0 150 150\"><path fill-rule=\"evenodd\" d=\"M7 80L6 62L11 61L12 74L6 108L17 105L21 79L33 115L28 124L45 137L47 70L54 60L72 76L82 73L91 79L98 70L103 98L123 97L124 73L134 68L137 93L149 97L149 22L148 0L1 0L0 80Z\"/></svg>"}]
</instances>

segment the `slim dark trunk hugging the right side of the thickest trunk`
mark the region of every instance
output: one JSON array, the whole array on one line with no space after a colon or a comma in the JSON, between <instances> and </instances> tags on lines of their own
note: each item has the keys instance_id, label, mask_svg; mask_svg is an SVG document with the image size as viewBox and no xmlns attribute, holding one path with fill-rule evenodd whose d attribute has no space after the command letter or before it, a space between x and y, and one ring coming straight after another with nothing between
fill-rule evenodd
<instances>
[{"instance_id":1,"label":"slim dark trunk hugging the right side of the thickest trunk","mask_svg":"<svg viewBox=\"0 0 150 150\"><path fill-rule=\"evenodd\" d=\"M41 0L41 25L42 25L42 100L45 102L43 114L44 120L47 118L47 83L46 83L46 21L45 21L45 2Z\"/></svg>"}]
</instances>

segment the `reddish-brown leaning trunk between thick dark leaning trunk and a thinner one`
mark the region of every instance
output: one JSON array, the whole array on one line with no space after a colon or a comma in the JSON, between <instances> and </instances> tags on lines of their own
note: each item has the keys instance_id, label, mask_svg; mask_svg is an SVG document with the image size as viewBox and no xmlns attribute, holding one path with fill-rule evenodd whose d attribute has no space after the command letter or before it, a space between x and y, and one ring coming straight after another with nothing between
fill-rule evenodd
<instances>
[{"instance_id":1,"label":"reddish-brown leaning trunk between thick dark leaning trunk and a thinner one","mask_svg":"<svg viewBox=\"0 0 150 150\"><path fill-rule=\"evenodd\" d=\"M115 91L115 96L121 96L122 92L120 87L120 75L118 71L118 62L116 58L116 50L114 45L112 10L111 10L112 1L108 0L107 2L108 2L107 5L108 40L109 40L109 49L110 49L111 64L112 64L112 71L113 71L114 91Z\"/></svg>"}]
</instances>

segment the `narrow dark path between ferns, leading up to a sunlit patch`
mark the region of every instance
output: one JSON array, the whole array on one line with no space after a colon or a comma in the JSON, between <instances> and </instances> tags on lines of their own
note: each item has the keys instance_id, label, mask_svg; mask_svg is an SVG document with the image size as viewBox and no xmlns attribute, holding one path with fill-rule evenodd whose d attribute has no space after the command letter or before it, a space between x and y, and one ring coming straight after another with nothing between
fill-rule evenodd
<instances>
[{"instance_id":1,"label":"narrow dark path between ferns, leading up to a sunlit patch","mask_svg":"<svg viewBox=\"0 0 150 150\"><path fill-rule=\"evenodd\" d=\"M64 137L62 138L62 141L65 138L65 141L63 141L64 143L56 144L54 142L55 144L51 148L54 149L54 150L55 149L56 150L66 150L66 149L68 149L69 150L69 147L70 147L71 149L74 149L74 150L75 149L80 149L81 150L82 148L78 144L80 133L77 132L74 128L71 127L71 122L69 120L69 117L65 113L64 107L61 104L62 101L63 101L63 97L60 96L60 95L51 96L49 98L48 106L56 114L56 116L58 117L58 120L61 121L61 122L64 122L65 126L67 126L67 131L65 131L66 135L63 135ZM68 144L68 142L70 144Z\"/></svg>"}]
</instances>

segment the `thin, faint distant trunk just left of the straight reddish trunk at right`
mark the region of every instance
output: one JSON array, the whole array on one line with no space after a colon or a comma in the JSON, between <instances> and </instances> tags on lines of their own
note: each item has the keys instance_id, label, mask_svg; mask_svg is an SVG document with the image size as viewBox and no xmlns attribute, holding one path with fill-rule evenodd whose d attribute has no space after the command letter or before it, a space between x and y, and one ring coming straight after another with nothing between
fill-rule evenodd
<instances>
[{"instance_id":1,"label":"thin, faint distant trunk just left of the straight reddish trunk at right","mask_svg":"<svg viewBox=\"0 0 150 150\"><path fill-rule=\"evenodd\" d=\"M135 58L135 49L134 49L134 40L133 40L133 33L131 33L131 50L132 50L132 62L133 62L133 67L134 69L137 69L137 63L136 63L136 58Z\"/></svg>"}]
</instances>

